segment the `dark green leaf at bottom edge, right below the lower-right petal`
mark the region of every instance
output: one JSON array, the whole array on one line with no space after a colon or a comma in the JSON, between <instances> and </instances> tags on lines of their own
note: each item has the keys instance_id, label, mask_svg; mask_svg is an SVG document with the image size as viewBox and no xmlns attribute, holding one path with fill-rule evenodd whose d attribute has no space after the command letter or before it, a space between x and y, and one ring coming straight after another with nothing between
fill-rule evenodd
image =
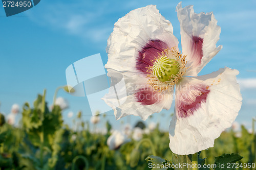
<instances>
[{"instance_id":1,"label":"dark green leaf at bottom edge, right below the lower-right petal","mask_svg":"<svg viewBox=\"0 0 256 170\"><path fill-rule=\"evenodd\" d=\"M223 154L215 159L215 164L217 165L215 170L236 170L236 165L233 166L233 164L241 159L243 157L238 154Z\"/></svg>"}]
</instances>

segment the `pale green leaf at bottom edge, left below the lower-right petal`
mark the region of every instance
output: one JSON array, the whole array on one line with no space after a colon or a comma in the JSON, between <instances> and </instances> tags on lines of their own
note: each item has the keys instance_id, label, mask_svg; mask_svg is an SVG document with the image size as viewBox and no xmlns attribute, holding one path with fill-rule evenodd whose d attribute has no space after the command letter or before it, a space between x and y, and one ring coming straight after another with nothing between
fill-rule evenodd
<instances>
[{"instance_id":1,"label":"pale green leaf at bottom edge, left below the lower-right petal","mask_svg":"<svg viewBox=\"0 0 256 170\"><path fill-rule=\"evenodd\" d=\"M152 170L174 170L174 168L172 168L172 163L158 156L150 155L146 157L145 161L151 162L148 163L148 167L152 168Z\"/></svg>"}]
</instances>

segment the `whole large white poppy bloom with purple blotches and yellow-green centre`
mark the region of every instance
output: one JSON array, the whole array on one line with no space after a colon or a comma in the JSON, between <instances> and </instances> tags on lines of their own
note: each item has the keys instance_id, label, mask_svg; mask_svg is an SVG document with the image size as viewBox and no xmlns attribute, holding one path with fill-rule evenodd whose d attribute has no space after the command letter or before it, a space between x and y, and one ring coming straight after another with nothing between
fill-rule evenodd
<instances>
[{"instance_id":1,"label":"whole large white poppy bloom with purple blotches and yellow-green centre","mask_svg":"<svg viewBox=\"0 0 256 170\"><path fill-rule=\"evenodd\" d=\"M181 26L182 53L173 26L149 5L120 18L108 39L105 68L122 74L126 90L110 90L103 100L117 119L148 116L169 109L176 85L175 114L169 126L170 149L179 155L194 154L214 146L230 127L242 104L236 80L239 71L228 67L204 76L201 69L221 50L216 47L221 29L211 13L194 13L193 6L176 11Z\"/></svg>"}]
</instances>

